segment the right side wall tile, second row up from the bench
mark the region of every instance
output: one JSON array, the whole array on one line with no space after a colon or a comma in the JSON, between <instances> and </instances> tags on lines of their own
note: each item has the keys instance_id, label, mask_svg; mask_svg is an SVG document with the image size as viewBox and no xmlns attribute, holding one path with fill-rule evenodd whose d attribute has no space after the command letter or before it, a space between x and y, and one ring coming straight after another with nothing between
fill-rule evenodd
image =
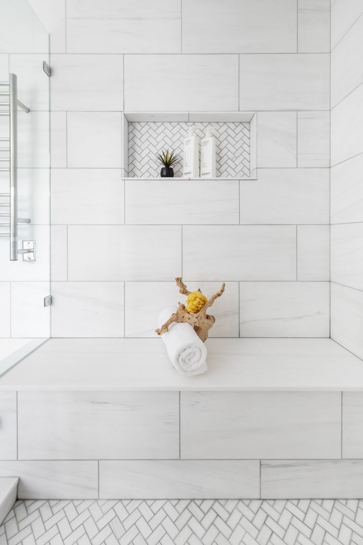
<instances>
[{"instance_id":1,"label":"right side wall tile, second row up from the bench","mask_svg":"<svg viewBox=\"0 0 363 545\"><path fill-rule=\"evenodd\" d=\"M363 290L363 223L330 228L331 281Z\"/></svg>"}]
</instances>

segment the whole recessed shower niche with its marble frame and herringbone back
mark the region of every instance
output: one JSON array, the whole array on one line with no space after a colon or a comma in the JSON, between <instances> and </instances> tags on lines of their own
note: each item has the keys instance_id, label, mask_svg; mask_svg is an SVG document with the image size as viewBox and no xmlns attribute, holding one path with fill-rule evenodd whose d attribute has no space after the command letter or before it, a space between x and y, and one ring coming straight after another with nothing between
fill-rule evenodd
<instances>
[{"instance_id":1,"label":"whole recessed shower niche with its marble frame and herringbone back","mask_svg":"<svg viewBox=\"0 0 363 545\"><path fill-rule=\"evenodd\" d=\"M256 178L255 112L125 112L122 167L128 178L158 178L156 154L173 149L180 156L175 178L183 177L183 141L192 127L202 138L207 128L217 140L217 177Z\"/></svg>"}]
</instances>

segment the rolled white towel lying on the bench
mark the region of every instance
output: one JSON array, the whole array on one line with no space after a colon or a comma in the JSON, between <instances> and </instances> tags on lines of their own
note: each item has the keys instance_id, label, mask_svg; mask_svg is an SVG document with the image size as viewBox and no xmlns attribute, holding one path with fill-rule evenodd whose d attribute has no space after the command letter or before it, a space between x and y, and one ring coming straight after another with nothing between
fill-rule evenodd
<instances>
[{"instance_id":1,"label":"rolled white towel lying on the bench","mask_svg":"<svg viewBox=\"0 0 363 545\"><path fill-rule=\"evenodd\" d=\"M161 312L158 318L159 328L175 311L176 308L165 308ZM207 371L207 349L192 325L171 324L169 331L164 333L161 338L167 347L169 358L181 374L192 376Z\"/></svg>"}]
</instances>

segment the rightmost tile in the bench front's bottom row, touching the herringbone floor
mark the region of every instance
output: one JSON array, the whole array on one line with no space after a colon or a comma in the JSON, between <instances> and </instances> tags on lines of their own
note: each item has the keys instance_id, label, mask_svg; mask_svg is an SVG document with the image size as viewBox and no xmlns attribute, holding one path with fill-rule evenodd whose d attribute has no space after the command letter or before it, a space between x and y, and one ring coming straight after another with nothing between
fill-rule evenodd
<instances>
[{"instance_id":1,"label":"rightmost tile in the bench front's bottom row, touching the herringbone floor","mask_svg":"<svg viewBox=\"0 0 363 545\"><path fill-rule=\"evenodd\" d=\"M263 460L261 498L361 498L362 472L363 460Z\"/></svg>"}]
</instances>

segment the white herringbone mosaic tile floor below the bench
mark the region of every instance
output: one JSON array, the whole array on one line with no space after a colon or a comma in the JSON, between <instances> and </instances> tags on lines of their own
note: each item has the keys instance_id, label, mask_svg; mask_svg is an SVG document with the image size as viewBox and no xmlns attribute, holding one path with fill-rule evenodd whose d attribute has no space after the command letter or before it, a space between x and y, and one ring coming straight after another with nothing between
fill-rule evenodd
<instances>
[{"instance_id":1,"label":"white herringbone mosaic tile floor below the bench","mask_svg":"<svg viewBox=\"0 0 363 545\"><path fill-rule=\"evenodd\" d=\"M362 545L361 500L19 500L0 545Z\"/></svg>"}]
</instances>

